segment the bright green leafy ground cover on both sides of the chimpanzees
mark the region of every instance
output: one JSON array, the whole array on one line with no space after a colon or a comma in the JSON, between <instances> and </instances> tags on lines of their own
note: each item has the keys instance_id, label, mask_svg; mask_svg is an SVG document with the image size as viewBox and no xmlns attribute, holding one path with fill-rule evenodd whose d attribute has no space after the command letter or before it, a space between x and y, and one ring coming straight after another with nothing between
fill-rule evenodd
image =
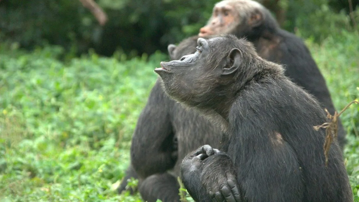
<instances>
[{"instance_id":1,"label":"bright green leafy ground cover on both sides of the chimpanzees","mask_svg":"<svg viewBox=\"0 0 359 202\"><path fill-rule=\"evenodd\" d=\"M338 110L359 97L358 35L321 45L308 39ZM60 62L63 51L27 53L0 45L0 201L141 201L115 188L129 163L137 117L164 54L126 59L88 56ZM359 106L348 129L346 167L359 196Z\"/></svg>"}]
</instances>

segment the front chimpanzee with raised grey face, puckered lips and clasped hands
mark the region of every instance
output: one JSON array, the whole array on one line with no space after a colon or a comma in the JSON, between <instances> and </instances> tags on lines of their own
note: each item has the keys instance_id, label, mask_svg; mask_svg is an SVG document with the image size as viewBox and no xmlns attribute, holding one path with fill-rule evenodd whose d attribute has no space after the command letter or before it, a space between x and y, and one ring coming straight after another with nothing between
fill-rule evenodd
<instances>
[{"instance_id":1,"label":"front chimpanzee with raised grey face, puckered lips and clasped hands","mask_svg":"<svg viewBox=\"0 0 359 202\"><path fill-rule=\"evenodd\" d=\"M161 62L166 94L222 125L220 150L201 146L181 164L196 201L353 201L334 140L325 165L323 109L234 35L198 39L197 51ZM160 124L160 123L159 123Z\"/></svg>"}]
</instances>

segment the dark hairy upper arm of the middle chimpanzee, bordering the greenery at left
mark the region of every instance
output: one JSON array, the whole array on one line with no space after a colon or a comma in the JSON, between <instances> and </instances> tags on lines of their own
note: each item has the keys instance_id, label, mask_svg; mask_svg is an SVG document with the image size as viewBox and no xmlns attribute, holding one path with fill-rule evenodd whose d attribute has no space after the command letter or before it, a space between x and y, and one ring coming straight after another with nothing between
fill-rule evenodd
<instances>
[{"instance_id":1,"label":"dark hairy upper arm of the middle chimpanzee, bordering the greenery at left","mask_svg":"<svg viewBox=\"0 0 359 202\"><path fill-rule=\"evenodd\" d=\"M131 164L141 178L173 168L177 151L170 120L171 103L159 80L137 121L131 144Z\"/></svg>"}]
</instances>

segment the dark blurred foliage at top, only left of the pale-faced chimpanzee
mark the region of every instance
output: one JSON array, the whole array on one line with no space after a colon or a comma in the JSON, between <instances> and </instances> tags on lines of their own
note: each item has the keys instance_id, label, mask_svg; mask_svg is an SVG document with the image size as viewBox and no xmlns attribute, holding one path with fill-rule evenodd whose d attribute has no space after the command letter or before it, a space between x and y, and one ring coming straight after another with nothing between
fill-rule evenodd
<instances>
[{"instance_id":1,"label":"dark blurred foliage at top, only left of the pale-faced chimpanzee","mask_svg":"<svg viewBox=\"0 0 359 202\"><path fill-rule=\"evenodd\" d=\"M210 14L198 11L211 10L215 2L99 0L97 3L109 18L101 27L77 0L2 0L0 41L19 42L25 48L46 41L74 54L86 53L89 47L106 56L111 56L117 48L130 56L151 54L157 49L165 51L168 43L178 42L199 30Z\"/></svg>"}]
</instances>

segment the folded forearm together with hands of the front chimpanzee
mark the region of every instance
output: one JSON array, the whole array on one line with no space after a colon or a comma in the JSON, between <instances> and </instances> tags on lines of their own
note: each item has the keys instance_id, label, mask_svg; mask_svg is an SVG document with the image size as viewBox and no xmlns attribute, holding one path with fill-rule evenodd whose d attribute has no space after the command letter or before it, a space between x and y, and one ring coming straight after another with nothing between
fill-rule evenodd
<instances>
[{"instance_id":1,"label":"folded forearm together with hands of the front chimpanzee","mask_svg":"<svg viewBox=\"0 0 359 202\"><path fill-rule=\"evenodd\" d=\"M224 152L204 145L181 164L181 179L195 201L239 202L236 170Z\"/></svg>"}]
</instances>

